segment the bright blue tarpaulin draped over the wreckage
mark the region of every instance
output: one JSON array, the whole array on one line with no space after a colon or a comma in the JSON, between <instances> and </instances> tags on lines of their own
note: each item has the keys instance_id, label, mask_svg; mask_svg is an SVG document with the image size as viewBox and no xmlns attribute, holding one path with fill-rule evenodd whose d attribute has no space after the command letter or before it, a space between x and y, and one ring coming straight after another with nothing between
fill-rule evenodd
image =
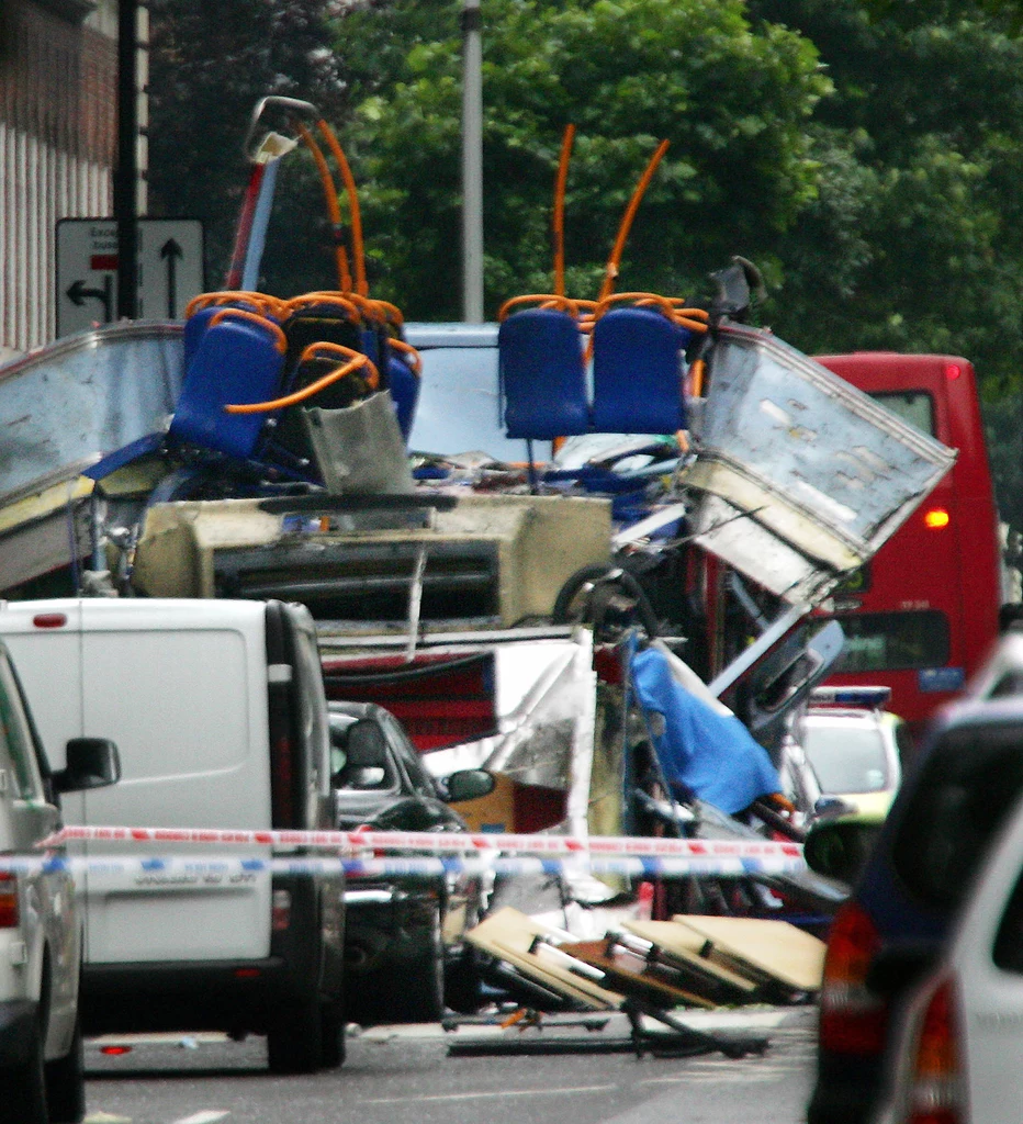
<instances>
[{"instance_id":1,"label":"bright blue tarpaulin draped over the wreckage","mask_svg":"<svg viewBox=\"0 0 1023 1124\"><path fill-rule=\"evenodd\" d=\"M663 732L654 726L654 747L676 798L696 797L732 816L781 791L767 750L734 715L717 714L687 691L662 652L634 653L632 682L640 706L664 719Z\"/></svg>"}]
</instances>

